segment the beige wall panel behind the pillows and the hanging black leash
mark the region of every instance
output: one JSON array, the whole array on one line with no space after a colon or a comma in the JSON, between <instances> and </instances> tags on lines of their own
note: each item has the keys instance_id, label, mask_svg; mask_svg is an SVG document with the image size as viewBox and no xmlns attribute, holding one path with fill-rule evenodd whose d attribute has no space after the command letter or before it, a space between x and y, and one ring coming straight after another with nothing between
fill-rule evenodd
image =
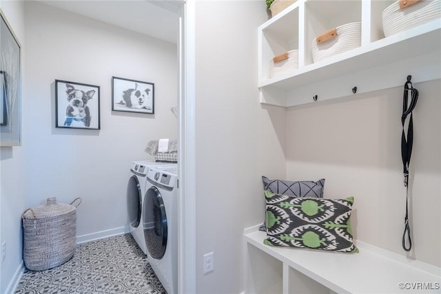
<instances>
[{"instance_id":1,"label":"beige wall panel behind the pillows and the hanging black leash","mask_svg":"<svg viewBox=\"0 0 441 294\"><path fill-rule=\"evenodd\" d=\"M413 86L420 97L413 112L413 249L408 256L441 266L441 83ZM287 178L326 178L325 198L354 196L356 238L406 255L401 246L406 205L402 96L402 87L396 87L289 108Z\"/></svg>"}]
</instances>

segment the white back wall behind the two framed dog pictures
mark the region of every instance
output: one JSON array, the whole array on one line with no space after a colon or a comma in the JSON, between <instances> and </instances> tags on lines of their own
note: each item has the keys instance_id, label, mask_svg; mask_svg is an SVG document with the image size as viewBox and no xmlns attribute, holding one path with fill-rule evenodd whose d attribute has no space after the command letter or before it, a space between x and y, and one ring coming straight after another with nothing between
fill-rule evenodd
<instances>
[{"instance_id":1,"label":"white back wall behind the two framed dog pictures","mask_svg":"<svg viewBox=\"0 0 441 294\"><path fill-rule=\"evenodd\" d=\"M132 160L152 159L148 140L177 136L176 45L40 3L25 17L26 204L79 196L77 235L125 227ZM155 114L112 112L112 76L154 83ZM54 127L56 78L101 86L101 130Z\"/></svg>"}]
</instances>

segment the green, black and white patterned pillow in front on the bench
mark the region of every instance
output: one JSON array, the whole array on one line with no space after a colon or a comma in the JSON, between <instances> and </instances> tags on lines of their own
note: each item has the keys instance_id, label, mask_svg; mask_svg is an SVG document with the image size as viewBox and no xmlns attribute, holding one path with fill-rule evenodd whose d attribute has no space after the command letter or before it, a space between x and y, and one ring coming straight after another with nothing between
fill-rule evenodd
<instances>
[{"instance_id":1,"label":"green, black and white patterned pillow in front on the bench","mask_svg":"<svg viewBox=\"0 0 441 294\"><path fill-rule=\"evenodd\" d=\"M265 200L267 239L264 244L358 252L350 222L353 197L292 198L265 191Z\"/></svg>"}]
</instances>

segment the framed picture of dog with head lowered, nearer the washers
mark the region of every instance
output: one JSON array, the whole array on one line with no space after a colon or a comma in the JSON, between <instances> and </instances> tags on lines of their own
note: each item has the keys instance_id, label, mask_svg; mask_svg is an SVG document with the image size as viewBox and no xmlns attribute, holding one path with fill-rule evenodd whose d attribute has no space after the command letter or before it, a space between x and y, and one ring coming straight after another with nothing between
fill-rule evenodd
<instances>
[{"instance_id":1,"label":"framed picture of dog with head lowered, nearer the washers","mask_svg":"<svg viewBox=\"0 0 441 294\"><path fill-rule=\"evenodd\" d=\"M154 83L113 76L112 110L154 114Z\"/></svg>"}]
</instances>

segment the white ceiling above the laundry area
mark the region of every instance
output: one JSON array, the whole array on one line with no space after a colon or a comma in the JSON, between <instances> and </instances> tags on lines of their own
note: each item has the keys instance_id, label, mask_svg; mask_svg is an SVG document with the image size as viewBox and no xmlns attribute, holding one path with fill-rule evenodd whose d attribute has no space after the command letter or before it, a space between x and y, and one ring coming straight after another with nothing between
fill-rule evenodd
<instances>
[{"instance_id":1,"label":"white ceiling above the laundry area","mask_svg":"<svg viewBox=\"0 0 441 294\"><path fill-rule=\"evenodd\" d=\"M68 10L85 17L147 34L157 39L176 43L178 38L178 10L182 1L71 1L37 0L49 6Z\"/></svg>"}]
</instances>

